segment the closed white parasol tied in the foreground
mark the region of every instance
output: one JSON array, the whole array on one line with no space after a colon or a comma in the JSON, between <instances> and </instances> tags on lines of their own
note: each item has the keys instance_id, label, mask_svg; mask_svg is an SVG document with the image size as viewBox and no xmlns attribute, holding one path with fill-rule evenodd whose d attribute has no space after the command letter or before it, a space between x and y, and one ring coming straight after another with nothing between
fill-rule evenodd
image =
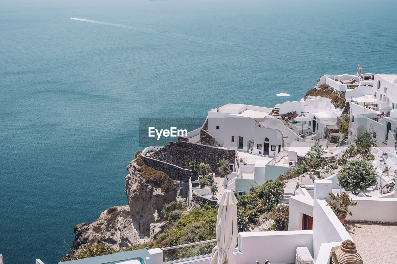
<instances>
[{"instance_id":1,"label":"closed white parasol tied in the foreground","mask_svg":"<svg viewBox=\"0 0 397 264\"><path fill-rule=\"evenodd\" d=\"M216 218L216 246L212 249L210 264L236 264L233 249L237 245L237 199L231 190L225 190L218 200Z\"/></svg>"}]
</instances>

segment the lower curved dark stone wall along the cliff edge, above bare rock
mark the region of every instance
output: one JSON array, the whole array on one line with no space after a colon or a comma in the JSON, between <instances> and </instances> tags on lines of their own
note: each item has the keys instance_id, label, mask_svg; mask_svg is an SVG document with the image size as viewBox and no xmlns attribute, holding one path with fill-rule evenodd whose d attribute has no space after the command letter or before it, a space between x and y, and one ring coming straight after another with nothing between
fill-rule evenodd
<instances>
[{"instance_id":1,"label":"lower curved dark stone wall along the cliff edge, above bare rock","mask_svg":"<svg viewBox=\"0 0 397 264\"><path fill-rule=\"evenodd\" d=\"M152 154L153 155L153 154ZM156 159L148 158L142 156L143 164L152 167L156 170L160 170L168 174L172 180L178 180L182 182L189 182L189 177L191 176L191 171L187 169L180 168L178 166L159 161Z\"/></svg>"}]
</instances>

